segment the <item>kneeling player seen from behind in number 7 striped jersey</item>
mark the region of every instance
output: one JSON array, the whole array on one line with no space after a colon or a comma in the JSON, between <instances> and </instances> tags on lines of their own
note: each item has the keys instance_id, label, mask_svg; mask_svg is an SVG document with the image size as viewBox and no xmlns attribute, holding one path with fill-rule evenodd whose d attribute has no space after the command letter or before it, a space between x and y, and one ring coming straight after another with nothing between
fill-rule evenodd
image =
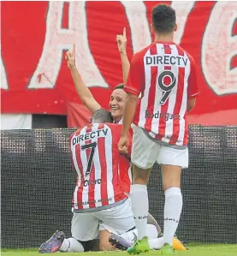
<instances>
[{"instance_id":1,"label":"kneeling player seen from behind in number 7 striped jersey","mask_svg":"<svg viewBox=\"0 0 237 256\"><path fill-rule=\"evenodd\" d=\"M41 245L39 253L84 252L83 242L98 237L101 221L113 234L123 235L127 240L136 237L127 195L131 187L127 172L130 158L117 150L121 125L110 122L110 111L100 109L92 116L92 124L71 135L72 164L78 175L72 237L65 239L63 232L58 231ZM126 171L122 172L121 180L122 170Z\"/></svg>"}]
</instances>

